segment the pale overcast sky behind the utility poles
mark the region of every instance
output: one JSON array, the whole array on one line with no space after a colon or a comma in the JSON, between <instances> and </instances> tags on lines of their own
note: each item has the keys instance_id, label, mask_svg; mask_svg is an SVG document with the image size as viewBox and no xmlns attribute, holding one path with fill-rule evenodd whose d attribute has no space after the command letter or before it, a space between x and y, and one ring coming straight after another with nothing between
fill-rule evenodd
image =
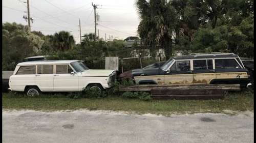
<instances>
[{"instance_id":1,"label":"pale overcast sky behind the utility poles","mask_svg":"<svg viewBox=\"0 0 256 143\"><path fill-rule=\"evenodd\" d=\"M54 34L61 30L70 31L76 43L79 41L79 18L81 33L94 33L94 11L92 3L99 5L97 28L100 38L113 36L124 39L137 35L139 24L135 7L136 0L30 0L32 31ZM3 22L27 24L23 18L27 11L26 0L3 0ZM97 30L98 34L98 30Z\"/></svg>"}]
</instances>

